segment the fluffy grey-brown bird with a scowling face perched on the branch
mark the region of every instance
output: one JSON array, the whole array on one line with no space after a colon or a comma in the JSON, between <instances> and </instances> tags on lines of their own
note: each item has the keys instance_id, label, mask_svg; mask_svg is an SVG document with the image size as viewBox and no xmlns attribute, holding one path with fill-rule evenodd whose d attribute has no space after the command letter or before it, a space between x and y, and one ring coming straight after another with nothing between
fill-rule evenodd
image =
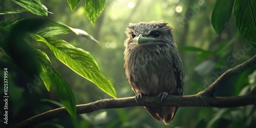
<instances>
[{"instance_id":1,"label":"fluffy grey-brown bird with a scowling face perched on the branch","mask_svg":"<svg viewBox=\"0 0 256 128\"><path fill-rule=\"evenodd\" d=\"M126 78L138 102L142 96L183 95L184 71L172 34L173 28L160 21L130 23L124 40ZM172 122L178 107L143 106L151 116Z\"/></svg>"}]
</instances>

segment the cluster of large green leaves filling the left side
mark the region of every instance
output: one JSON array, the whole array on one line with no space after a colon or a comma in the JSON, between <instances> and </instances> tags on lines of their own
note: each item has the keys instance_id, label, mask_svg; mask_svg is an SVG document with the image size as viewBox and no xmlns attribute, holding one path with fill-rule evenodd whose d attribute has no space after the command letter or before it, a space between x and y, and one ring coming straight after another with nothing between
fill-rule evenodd
<instances>
[{"instance_id":1,"label":"cluster of large green leaves filling the left side","mask_svg":"<svg viewBox=\"0 0 256 128\"><path fill-rule=\"evenodd\" d=\"M48 16L48 9L40 1L13 0L13 2L22 6L23 9L5 10L0 13L10 14L30 11L39 16ZM71 9L74 8L73 6L71 7ZM25 38L26 33L36 41L45 42L57 59L77 74L95 83L105 93L116 98L113 84L99 71L96 61L89 52L76 48L65 40L54 37L56 35L74 32L78 36L97 41L87 32L71 28L57 20L49 18L19 17L6 19L0 23L0 28L9 34L8 38L1 40L2 49L29 77L32 78L34 75L39 75L48 91L50 91L53 85L59 100L74 120L76 118L76 102L72 90L63 76L53 68L48 55L41 50L32 48L32 41ZM27 86L30 91L35 88L33 84L27 84Z\"/></svg>"}]
</instances>

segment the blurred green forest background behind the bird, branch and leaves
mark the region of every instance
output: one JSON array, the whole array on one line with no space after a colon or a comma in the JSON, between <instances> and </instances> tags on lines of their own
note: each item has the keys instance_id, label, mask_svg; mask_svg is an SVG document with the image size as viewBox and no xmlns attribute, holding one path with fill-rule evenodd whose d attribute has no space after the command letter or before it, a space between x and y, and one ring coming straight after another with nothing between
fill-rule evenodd
<instances>
[{"instance_id":1,"label":"blurred green forest background behind the bird, branch and leaves","mask_svg":"<svg viewBox=\"0 0 256 128\"><path fill-rule=\"evenodd\" d=\"M184 95L197 94L206 89L227 69L239 65L256 54L255 49L245 44L234 25L233 14L224 30L217 35L211 25L211 13L216 1L209 0L107 0L105 8L93 26L84 13L84 1L72 12L67 1L41 0L53 14L49 18L59 20L72 28L87 31L101 43L81 39L72 33L62 39L75 47L89 51L97 61L100 71L114 85L117 97L135 96L125 77L123 68L123 41L129 23L163 20L174 27L173 35L179 47L185 71ZM1 1L0 9L20 8L11 1ZM0 19L14 17L37 17L30 12L0 15ZM1 36L0 36L1 37ZM49 48L34 44L50 57L54 68L69 83L77 104L111 98L93 83L74 73L55 58ZM34 115L58 108L54 91L48 92L43 83L26 78L12 60L3 52L1 69L9 67L9 121L18 123ZM256 67L231 77L215 94L216 96L244 95L256 86ZM3 78L1 74L1 78ZM38 82L30 93L26 83ZM0 89L3 93L3 88ZM50 100L49 100L50 99ZM1 102L1 106L4 106ZM2 109L1 109L2 110ZM10 111L11 110L11 111ZM179 108L169 125L151 117L142 107L109 109L90 114L77 115L80 127L256 127L256 107L248 105L238 108ZM3 111L0 111L3 115ZM2 122L1 122L2 123ZM35 127L72 127L68 116L53 119Z\"/></svg>"}]
</instances>

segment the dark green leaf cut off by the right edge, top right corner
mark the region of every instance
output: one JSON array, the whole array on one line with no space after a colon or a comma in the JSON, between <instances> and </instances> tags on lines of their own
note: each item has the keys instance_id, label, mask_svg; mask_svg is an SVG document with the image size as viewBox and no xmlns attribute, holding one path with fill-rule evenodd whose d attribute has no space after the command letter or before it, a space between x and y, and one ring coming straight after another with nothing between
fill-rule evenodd
<instances>
[{"instance_id":1,"label":"dark green leaf cut off by the right edge, top right corner","mask_svg":"<svg viewBox=\"0 0 256 128\"><path fill-rule=\"evenodd\" d=\"M256 49L256 1L236 0L234 22L242 39Z\"/></svg>"}]
</instances>

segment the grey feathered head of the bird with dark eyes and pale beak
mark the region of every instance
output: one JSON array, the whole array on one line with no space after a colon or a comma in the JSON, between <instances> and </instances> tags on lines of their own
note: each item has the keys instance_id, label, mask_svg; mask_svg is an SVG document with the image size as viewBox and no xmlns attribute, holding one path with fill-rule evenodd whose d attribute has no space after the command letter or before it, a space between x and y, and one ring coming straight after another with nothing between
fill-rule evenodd
<instances>
[{"instance_id":1,"label":"grey feathered head of the bird with dark eyes and pale beak","mask_svg":"<svg viewBox=\"0 0 256 128\"><path fill-rule=\"evenodd\" d=\"M174 39L172 35L172 27L168 23L140 22L138 24L130 23L126 31L127 39L124 46L152 46L152 45L172 45Z\"/></svg>"}]
</instances>

